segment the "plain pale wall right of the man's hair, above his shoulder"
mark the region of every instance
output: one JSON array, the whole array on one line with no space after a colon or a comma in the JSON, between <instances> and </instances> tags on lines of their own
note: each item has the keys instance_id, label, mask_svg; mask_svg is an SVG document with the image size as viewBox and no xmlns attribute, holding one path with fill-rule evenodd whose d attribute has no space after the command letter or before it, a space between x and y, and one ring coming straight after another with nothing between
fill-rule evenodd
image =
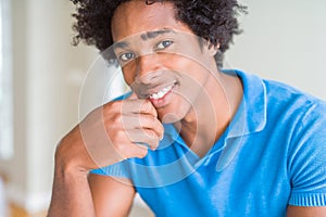
<instances>
[{"instance_id":1,"label":"plain pale wall right of the man's hair, above his shoulder","mask_svg":"<svg viewBox=\"0 0 326 217\"><path fill-rule=\"evenodd\" d=\"M226 54L231 67L326 99L326 1L242 0L244 33Z\"/></svg>"}]
</instances>

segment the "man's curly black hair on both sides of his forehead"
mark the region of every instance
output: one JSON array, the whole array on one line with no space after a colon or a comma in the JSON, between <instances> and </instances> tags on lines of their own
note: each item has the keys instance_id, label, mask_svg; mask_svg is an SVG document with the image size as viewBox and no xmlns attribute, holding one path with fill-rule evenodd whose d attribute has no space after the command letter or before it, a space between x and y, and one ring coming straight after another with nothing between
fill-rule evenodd
<instances>
[{"instance_id":1,"label":"man's curly black hair on both sides of his forehead","mask_svg":"<svg viewBox=\"0 0 326 217\"><path fill-rule=\"evenodd\" d=\"M76 5L73 16L77 22L73 29L77 35L75 46L85 41L96 46L101 52L112 43L111 18L115 9L130 0L71 0ZM247 8L237 0L143 0L147 4L172 2L175 7L175 18L188 25L195 35L205 39L212 46L220 43L215 59L222 63L223 53L233 42L234 35L241 33L237 16L247 13Z\"/></svg>"}]
</instances>

